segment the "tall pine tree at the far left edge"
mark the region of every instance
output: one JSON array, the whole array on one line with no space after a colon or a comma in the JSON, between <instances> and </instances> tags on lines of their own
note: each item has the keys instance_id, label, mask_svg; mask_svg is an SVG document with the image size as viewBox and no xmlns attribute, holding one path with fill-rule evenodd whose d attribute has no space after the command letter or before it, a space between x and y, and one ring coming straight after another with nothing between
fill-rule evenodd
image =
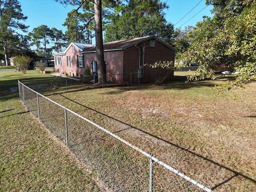
<instances>
[{"instance_id":1,"label":"tall pine tree at the far left edge","mask_svg":"<svg viewBox=\"0 0 256 192\"><path fill-rule=\"evenodd\" d=\"M17 29L26 32L25 26L20 20L26 20L22 14L22 9L17 0L0 0L0 46L4 50L6 65L8 65L8 49L20 45L20 37Z\"/></svg>"}]
</instances>

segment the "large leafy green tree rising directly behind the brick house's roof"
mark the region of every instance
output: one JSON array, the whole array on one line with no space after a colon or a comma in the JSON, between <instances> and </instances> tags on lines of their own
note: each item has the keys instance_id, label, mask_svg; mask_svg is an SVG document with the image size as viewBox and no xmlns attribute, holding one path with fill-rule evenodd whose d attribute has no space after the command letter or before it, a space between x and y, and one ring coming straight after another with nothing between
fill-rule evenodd
<instances>
[{"instance_id":1,"label":"large leafy green tree rising directly behind the brick house's roof","mask_svg":"<svg viewBox=\"0 0 256 192\"><path fill-rule=\"evenodd\" d=\"M171 44L174 40L174 26L164 18L163 10L166 8L168 6L159 0L130 0L120 15L112 17L112 23L106 27L104 41L156 35Z\"/></svg>"}]
</instances>

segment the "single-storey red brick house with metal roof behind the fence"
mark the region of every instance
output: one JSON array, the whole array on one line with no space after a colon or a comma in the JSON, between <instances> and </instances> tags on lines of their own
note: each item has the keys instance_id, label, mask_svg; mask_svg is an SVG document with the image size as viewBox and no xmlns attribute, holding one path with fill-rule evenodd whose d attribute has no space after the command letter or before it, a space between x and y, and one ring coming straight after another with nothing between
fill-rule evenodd
<instances>
[{"instance_id":1,"label":"single-storey red brick house with metal roof behind the fence","mask_svg":"<svg viewBox=\"0 0 256 192\"><path fill-rule=\"evenodd\" d=\"M80 46L84 46L84 48ZM128 40L104 43L104 60L107 80L119 84L151 83L169 72L163 68L151 68L145 64L158 61L173 61L177 51L156 36L146 36ZM74 50L74 51L72 51ZM71 43L68 48L54 54L55 69L61 74L84 74L86 66L97 74L96 48L94 45ZM166 82L173 80L173 71Z\"/></svg>"}]
</instances>

